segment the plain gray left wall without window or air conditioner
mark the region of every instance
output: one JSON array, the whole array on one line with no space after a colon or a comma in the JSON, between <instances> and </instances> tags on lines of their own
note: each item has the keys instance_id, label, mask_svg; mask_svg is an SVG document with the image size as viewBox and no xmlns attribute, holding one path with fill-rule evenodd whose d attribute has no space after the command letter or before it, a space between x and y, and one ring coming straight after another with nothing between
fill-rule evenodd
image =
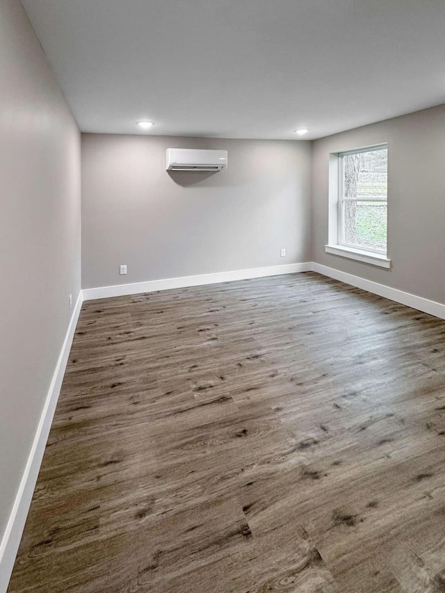
<instances>
[{"instance_id":1,"label":"plain gray left wall without window or air conditioner","mask_svg":"<svg viewBox=\"0 0 445 593\"><path fill-rule=\"evenodd\" d=\"M80 290L80 133L19 0L0 2L0 539Z\"/></svg>"}]
</instances>

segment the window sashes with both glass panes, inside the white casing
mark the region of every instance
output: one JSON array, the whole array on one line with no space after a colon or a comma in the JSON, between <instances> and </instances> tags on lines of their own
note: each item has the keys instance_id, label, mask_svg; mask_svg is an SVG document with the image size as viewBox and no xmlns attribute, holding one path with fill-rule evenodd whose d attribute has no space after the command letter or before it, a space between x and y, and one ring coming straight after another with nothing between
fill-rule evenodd
<instances>
[{"instance_id":1,"label":"window sashes with both glass panes, inside the white casing","mask_svg":"<svg viewBox=\"0 0 445 593\"><path fill-rule=\"evenodd\" d=\"M339 245L387 252L386 145L339 154Z\"/></svg>"}]
</instances>

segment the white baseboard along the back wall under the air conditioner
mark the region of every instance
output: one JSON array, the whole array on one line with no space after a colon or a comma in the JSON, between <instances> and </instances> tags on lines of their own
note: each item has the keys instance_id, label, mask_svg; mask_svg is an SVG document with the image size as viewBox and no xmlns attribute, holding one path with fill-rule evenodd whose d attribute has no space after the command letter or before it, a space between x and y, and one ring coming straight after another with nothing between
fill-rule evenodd
<instances>
[{"instance_id":1,"label":"white baseboard along the back wall under the air conditioner","mask_svg":"<svg viewBox=\"0 0 445 593\"><path fill-rule=\"evenodd\" d=\"M147 282L134 282L133 284L117 284L115 286L99 286L97 289L83 289L83 300L95 300L114 296L134 295L138 293L151 293L168 289L184 289L187 286L200 286L202 284L216 284L218 282L232 282L233 280L247 280L264 276L277 276L312 271L312 261L305 263L287 263L284 266L268 266L267 268L250 268L248 270L234 270L232 272L217 272L200 274L197 276L182 276L179 278L166 278L161 280L148 280Z\"/></svg>"}]
</instances>

